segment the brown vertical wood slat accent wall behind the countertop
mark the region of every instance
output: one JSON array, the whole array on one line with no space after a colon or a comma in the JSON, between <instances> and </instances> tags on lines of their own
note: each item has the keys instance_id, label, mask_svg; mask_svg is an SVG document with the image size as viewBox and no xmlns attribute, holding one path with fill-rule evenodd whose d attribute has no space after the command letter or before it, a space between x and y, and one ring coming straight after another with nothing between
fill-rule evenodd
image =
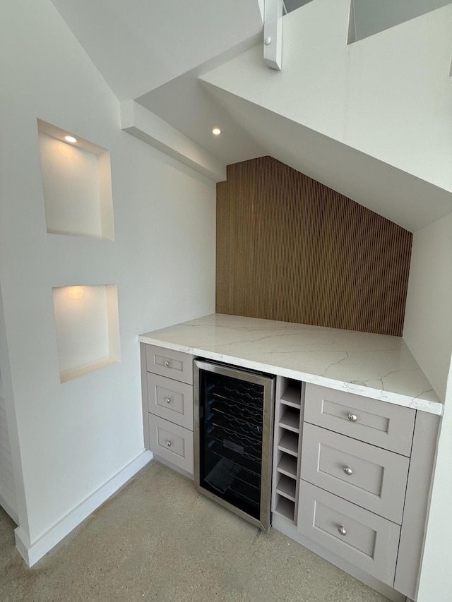
<instances>
[{"instance_id":1,"label":"brown vertical wood slat accent wall behind the countertop","mask_svg":"<svg viewBox=\"0 0 452 602\"><path fill-rule=\"evenodd\" d=\"M216 311L402 335L412 234L273 159L217 184Z\"/></svg>"}]
</instances>

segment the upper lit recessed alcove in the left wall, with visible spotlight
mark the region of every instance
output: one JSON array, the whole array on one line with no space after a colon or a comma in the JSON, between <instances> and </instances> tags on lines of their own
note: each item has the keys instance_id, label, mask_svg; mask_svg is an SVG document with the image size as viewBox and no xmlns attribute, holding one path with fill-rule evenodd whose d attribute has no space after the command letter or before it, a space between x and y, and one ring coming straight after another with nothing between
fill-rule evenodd
<instances>
[{"instance_id":1,"label":"upper lit recessed alcove in the left wall, with visible spotlight","mask_svg":"<svg viewBox=\"0 0 452 602\"><path fill-rule=\"evenodd\" d=\"M109 151L41 119L37 128L47 232L114 240Z\"/></svg>"}]
</instances>

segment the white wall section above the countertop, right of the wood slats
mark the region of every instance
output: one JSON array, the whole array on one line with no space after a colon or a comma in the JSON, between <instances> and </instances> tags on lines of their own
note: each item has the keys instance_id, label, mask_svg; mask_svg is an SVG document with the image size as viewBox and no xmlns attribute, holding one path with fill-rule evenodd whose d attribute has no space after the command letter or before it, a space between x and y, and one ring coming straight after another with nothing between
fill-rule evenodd
<instances>
[{"instance_id":1,"label":"white wall section above the countertop, right of the wood slats","mask_svg":"<svg viewBox=\"0 0 452 602\"><path fill-rule=\"evenodd\" d=\"M452 354L452 213L415 232L403 338L441 399Z\"/></svg>"}]
</instances>

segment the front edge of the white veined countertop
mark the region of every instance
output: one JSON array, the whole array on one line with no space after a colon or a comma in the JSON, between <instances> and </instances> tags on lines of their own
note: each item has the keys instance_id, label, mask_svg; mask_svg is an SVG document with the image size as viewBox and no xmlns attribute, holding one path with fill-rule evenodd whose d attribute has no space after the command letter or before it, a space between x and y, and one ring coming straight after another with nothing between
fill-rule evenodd
<instances>
[{"instance_id":1,"label":"front edge of the white veined countertop","mask_svg":"<svg viewBox=\"0 0 452 602\"><path fill-rule=\"evenodd\" d=\"M154 339L144 335L138 336L138 342L155 345L156 347L163 347L165 349L173 349L174 351L182 351L182 353L201 356L214 361L225 361L225 363L231 363L232 365L239 366L241 368L249 368L251 370L257 370L278 376L285 376L287 378L293 378L294 380L303 380L305 383L329 387L330 389L335 389L338 391L354 393L355 395L361 395L362 397L369 397L369 399L379 399L379 401L408 407L411 409L417 409L429 414L435 414L436 416L442 416L444 412L444 405L441 404L441 402L432 402L428 399L422 399L421 397L408 397L406 395L400 395L399 393L393 393L390 391L373 389L371 387L362 387L361 385L355 385L354 383L345 383L333 378L326 378L315 374L274 366L272 364L242 359L237 356L228 356L225 354L220 354L216 351L208 351L206 349L198 349L196 347L187 347L186 345L170 343L162 339Z\"/></svg>"}]
</instances>

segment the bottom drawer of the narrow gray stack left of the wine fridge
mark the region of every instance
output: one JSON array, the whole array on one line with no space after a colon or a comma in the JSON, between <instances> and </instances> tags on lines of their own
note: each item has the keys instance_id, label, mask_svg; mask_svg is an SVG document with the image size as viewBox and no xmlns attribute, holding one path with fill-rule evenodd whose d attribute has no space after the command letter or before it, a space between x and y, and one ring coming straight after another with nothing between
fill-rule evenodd
<instances>
[{"instance_id":1,"label":"bottom drawer of the narrow gray stack left of the wine fridge","mask_svg":"<svg viewBox=\"0 0 452 602\"><path fill-rule=\"evenodd\" d=\"M149 414L150 449L168 462L193 474L193 433L160 416Z\"/></svg>"}]
</instances>

